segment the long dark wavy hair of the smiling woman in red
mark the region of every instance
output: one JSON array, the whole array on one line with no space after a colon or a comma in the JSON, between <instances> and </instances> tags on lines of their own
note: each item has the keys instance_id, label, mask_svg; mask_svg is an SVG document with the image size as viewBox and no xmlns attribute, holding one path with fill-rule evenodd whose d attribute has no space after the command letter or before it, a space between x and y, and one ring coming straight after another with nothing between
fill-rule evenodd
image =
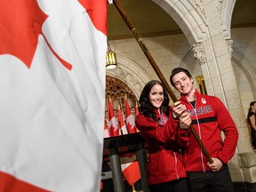
<instances>
[{"instance_id":1,"label":"long dark wavy hair of the smiling woman in red","mask_svg":"<svg viewBox=\"0 0 256 192\"><path fill-rule=\"evenodd\" d=\"M148 82L148 84L146 84L140 94L140 107L139 107L139 111L140 114L143 114L144 116L147 117L151 117L153 118L156 122L159 120L156 117L156 113L154 112L154 106L149 102L149 92L151 91L152 87L156 84L159 84L163 87L164 90L164 101L162 103L161 108L163 108L164 114L166 116L169 116L169 97L168 97L168 93L166 91L166 89L164 88L164 84L162 84L162 82L158 81L158 80L151 80Z\"/></svg>"}]
</instances>

